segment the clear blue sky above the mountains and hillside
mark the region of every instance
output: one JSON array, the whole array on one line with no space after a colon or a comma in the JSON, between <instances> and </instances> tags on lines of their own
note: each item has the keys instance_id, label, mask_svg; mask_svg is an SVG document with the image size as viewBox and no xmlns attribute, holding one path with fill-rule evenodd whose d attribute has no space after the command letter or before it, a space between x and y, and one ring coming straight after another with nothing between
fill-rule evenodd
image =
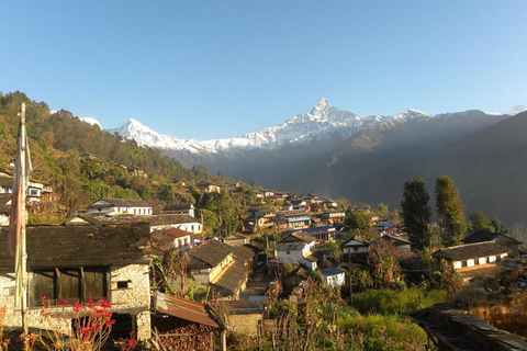
<instances>
[{"instance_id":1,"label":"clear blue sky above the mountains and hillside","mask_svg":"<svg viewBox=\"0 0 527 351\"><path fill-rule=\"evenodd\" d=\"M527 1L8 1L0 91L115 127L237 137L325 97L361 115L527 104Z\"/></svg>"}]
</instances>

